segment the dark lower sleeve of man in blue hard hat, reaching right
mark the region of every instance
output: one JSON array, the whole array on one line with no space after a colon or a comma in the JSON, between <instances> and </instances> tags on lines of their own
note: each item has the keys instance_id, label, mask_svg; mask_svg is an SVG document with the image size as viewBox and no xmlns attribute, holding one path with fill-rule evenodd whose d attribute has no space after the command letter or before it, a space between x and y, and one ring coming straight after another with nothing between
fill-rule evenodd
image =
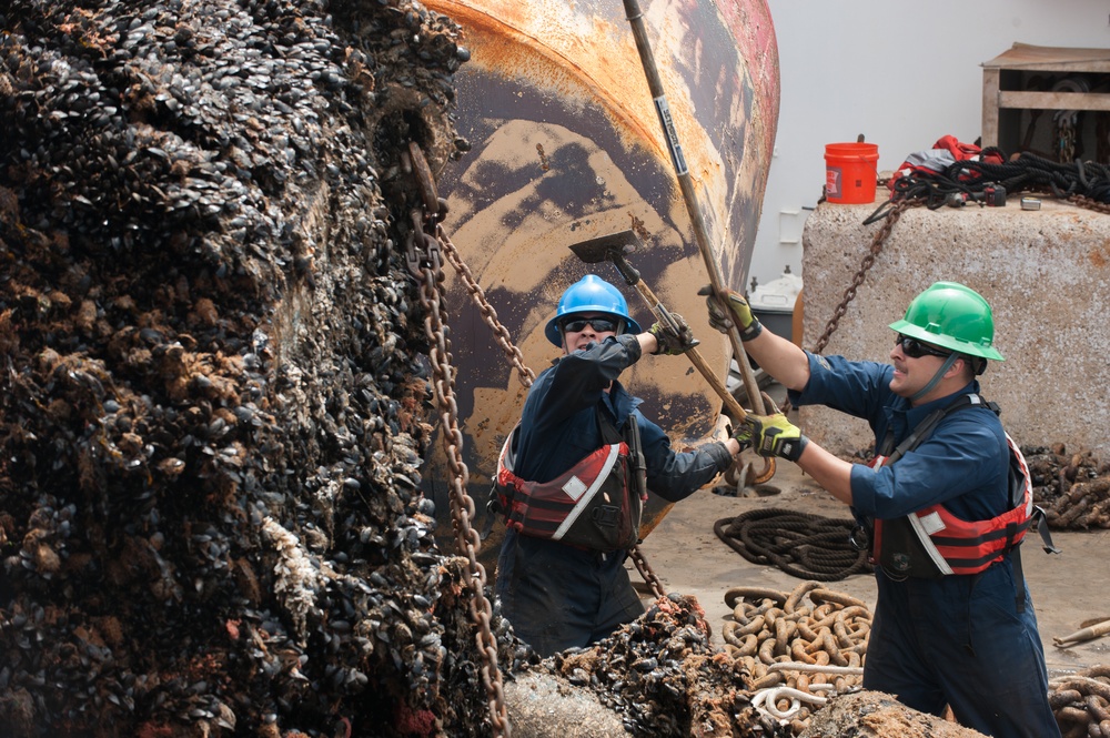
<instances>
[{"instance_id":1,"label":"dark lower sleeve of man in blue hard hat, reaching right","mask_svg":"<svg viewBox=\"0 0 1110 738\"><path fill-rule=\"evenodd\" d=\"M709 443L692 452L676 452L667 434L638 411L640 443L647 462L647 488L664 499L677 503L712 482L733 463L723 443Z\"/></svg>"}]
</instances>

